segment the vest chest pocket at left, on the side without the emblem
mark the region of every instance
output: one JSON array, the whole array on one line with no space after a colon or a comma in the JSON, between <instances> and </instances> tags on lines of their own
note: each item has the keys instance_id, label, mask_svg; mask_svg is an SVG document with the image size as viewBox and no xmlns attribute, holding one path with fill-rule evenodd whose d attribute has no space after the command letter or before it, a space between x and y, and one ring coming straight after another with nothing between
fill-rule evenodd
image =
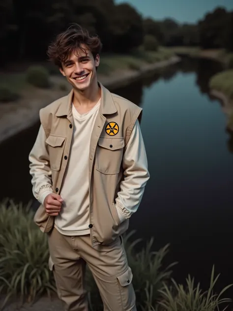
<instances>
[{"instance_id":1,"label":"vest chest pocket at left, on the side without the emblem","mask_svg":"<svg viewBox=\"0 0 233 311\"><path fill-rule=\"evenodd\" d=\"M49 135L46 139L46 143L49 145L49 158L50 158L50 167L54 171L59 171L61 158L64 151L64 141L66 137Z\"/></svg>"}]
</instances>

